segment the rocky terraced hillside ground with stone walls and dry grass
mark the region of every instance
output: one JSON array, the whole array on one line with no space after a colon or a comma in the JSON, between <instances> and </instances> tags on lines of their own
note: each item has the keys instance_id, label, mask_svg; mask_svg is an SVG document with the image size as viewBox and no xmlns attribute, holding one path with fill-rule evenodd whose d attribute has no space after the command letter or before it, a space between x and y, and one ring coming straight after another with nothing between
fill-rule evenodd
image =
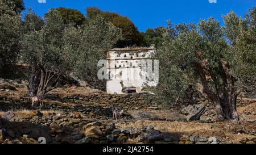
<instances>
[{"instance_id":1,"label":"rocky terraced hillside ground with stone walls and dry grass","mask_svg":"<svg viewBox=\"0 0 256 155\"><path fill-rule=\"evenodd\" d=\"M256 99L238 99L241 122L216 122L214 106L201 99L183 107L129 104L122 118L112 119L115 98L104 103L87 98L104 92L63 86L44 106L31 108L26 82L0 80L0 143L256 143ZM199 120L191 118L201 108Z\"/></svg>"}]
</instances>

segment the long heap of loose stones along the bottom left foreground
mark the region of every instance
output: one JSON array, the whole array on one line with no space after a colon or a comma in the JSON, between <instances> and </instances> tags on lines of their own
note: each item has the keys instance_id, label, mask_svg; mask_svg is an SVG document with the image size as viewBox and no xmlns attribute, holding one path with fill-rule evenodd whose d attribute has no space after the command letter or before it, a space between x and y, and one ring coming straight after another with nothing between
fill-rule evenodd
<instances>
[{"instance_id":1,"label":"long heap of loose stones along the bottom left foreground","mask_svg":"<svg viewBox=\"0 0 256 155\"><path fill-rule=\"evenodd\" d=\"M54 113L42 115L40 112L18 120L13 112L6 112L0 118L0 143L40 143L39 139L42 137L46 139L46 143L54 144L122 144L129 143L129 140L133 140L133 143L178 141L171 135L155 130L151 125L141 129L118 129L110 121L92 121L76 113L66 116Z\"/></svg>"}]
</instances>

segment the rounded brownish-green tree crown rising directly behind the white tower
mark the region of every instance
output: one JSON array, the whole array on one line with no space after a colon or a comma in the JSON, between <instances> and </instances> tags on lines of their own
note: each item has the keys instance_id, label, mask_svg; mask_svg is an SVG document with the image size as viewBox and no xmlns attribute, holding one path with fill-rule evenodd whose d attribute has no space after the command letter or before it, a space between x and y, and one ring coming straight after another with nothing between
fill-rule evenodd
<instances>
[{"instance_id":1,"label":"rounded brownish-green tree crown rising directly behind the white tower","mask_svg":"<svg viewBox=\"0 0 256 155\"><path fill-rule=\"evenodd\" d=\"M97 15L101 15L105 20L111 22L115 27L121 28L123 38L118 40L117 47L126 47L136 44L141 45L141 35L138 28L126 16L121 16L117 13L101 11L97 7L88 7L86 16L89 19L94 19Z\"/></svg>"}]
</instances>

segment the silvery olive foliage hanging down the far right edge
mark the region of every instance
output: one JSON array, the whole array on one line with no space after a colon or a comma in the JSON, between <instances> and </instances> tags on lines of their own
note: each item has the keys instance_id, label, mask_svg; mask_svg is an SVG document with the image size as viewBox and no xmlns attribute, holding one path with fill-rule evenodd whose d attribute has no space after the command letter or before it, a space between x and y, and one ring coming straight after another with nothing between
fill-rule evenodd
<instances>
[{"instance_id":1,"label":"silvery olive foliage hanging down the far right edge","mask_svg":"<svg viewBox=\"0 0 256 155\"><path fill-rule=\"evenodd\" d=\"M224 32L229 42L225 55L230 72L236 77L239 89L254 94L256 91L256 7L247 11L245 19L233 11L223 16Z\"/></svg>"}]
</instances>

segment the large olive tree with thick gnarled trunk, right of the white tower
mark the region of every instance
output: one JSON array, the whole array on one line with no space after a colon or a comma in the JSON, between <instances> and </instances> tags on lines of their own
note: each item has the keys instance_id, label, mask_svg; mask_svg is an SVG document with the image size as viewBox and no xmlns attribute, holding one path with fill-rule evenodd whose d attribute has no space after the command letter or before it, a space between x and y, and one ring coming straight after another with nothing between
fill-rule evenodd
<instances>
[{"instance_id":1,"label":"large olive tree with thick gnarled trunk, right of the white tower","mask_svg":"<svg viewBox=\"0 0 256 155\"><path fill-rule=\"evenodd\" d=\"M255 32L255 25L251 26L251 20L255 14L251 12L248 22L241 22L230 12L224 18L224 27L213 18L167 27L163 46L154 55L160 64L155 93L177 103L189 86L197 87L200 83L216 107L218 120L238 120L236 101L243 79L255 75L256 42L249 41L254 38L251 31ZM247 43L246 34L250 34Z\"/></svg>"}]
</instances>

